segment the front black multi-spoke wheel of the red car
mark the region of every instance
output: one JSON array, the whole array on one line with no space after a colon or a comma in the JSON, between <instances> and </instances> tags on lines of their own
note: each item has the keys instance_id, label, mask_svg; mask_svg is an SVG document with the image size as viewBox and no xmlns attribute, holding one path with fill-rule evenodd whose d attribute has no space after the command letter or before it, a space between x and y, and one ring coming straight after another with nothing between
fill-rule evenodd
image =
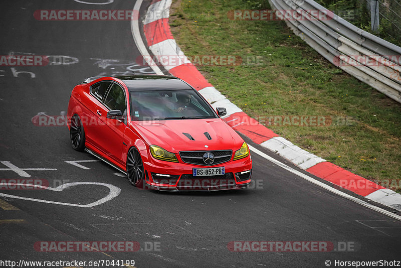
<instances>
[{"instance_id":1,"label":"front black multi-spoke wheel of the red car","mask_svg":"<svg viewBox=\"0 0 401 268\"><path fill-rule=\"evenodd\" d=\"M127 154L127 177L132 185L138 188L143 187L145 172L141 155L135 147L129 149Z\"/></svg>"}]
</instances>

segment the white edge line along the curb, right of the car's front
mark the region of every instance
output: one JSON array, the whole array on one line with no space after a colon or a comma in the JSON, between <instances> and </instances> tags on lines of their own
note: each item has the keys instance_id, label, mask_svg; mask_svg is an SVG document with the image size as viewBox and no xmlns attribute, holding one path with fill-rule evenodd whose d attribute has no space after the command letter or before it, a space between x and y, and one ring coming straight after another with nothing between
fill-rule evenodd
<instances>
[{"instance_id":1,"label":"white edge line along the curb, right of the car's front","mask_svg":"<svg viewBox=\"0 0 401 268\"><path fill-rule=\"evenodd\" d=\"M280 161L278 161L278 160L266 155L265 153L259 151L258 149L254 148L254 147L252 147L250 145L248 145L248 147L255 154L260 155L264 159L272 162L273 164L275 164L275 165L277 165L277 166L279 166L279 167L281 167L281 168L283 168L283 169L285 169L285 170L287 170L287 171L289 171L289 172L291 172L291 173L293 173L293 174L295 174L295 175L297 175L297 176L299 176L299 177L301 177L301 178L303 178L303 179L305 179L305 180L307 180L307 181L309 181L309 182L311 182L313 184L316 184L316 185L318 185L318 186L320 186L320 187L322 187L322 188L324 188L324 189L326 189L326 190L328 190L328 191L330 191L332 193L335 193L335 194L337 194L339 196L342 196L342 197L344 197L346 199L349 199L349 200L351 200L351 201L353 201L355 203L358 203L358 204L360 204L362 206L365 206L365 207L370 208L370 209L372 209L374 211L377 211L377 212L382 213L382 214L384 214L386 216L389 216L391 218L394 218L394 219L397 219L397 220L401 221L401 216L399 216L397 214L391 213L391 212L389 212L389 211L387 211L385 209L376 207L376 206L374 206L372 204L369 204L369 203L367 203L367 202L365 202L363 200L360 200L360 199L358 199L356 197L353 197L353 196L350 196L350 195L348 195L346 193L343 193L343 192L341 192L341 191L339 191L339 190L337 190L337 189L335 189L335 188L333 188L333 187L331 187L331 186L329 186L329 185L327 185L325 183L322 183L322 182L320 182L318 180L313 179L312 177L309 177L306 174L303 174L302 172L299 172L299 171L297 171L297 170L295 170L293 168L288 167L287 165L285 165L285 164L281 163Z\"/></svg>"}]
</instances>

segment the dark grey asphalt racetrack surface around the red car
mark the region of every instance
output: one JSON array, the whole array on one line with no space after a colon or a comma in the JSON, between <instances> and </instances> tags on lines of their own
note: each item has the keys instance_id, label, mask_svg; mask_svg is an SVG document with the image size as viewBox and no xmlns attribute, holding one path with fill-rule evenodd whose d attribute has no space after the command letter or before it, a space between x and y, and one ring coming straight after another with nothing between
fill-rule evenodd
<instances>
[{"instance_id":1,"label":"dark grey asphalt racetrack surface around the red car","mask_svg":"<svg viewBox=\"0 0 401 268\"><path fill-rule=\"evenodd\" d=\"M67 127L36 126L32 117L66 111L72 88L87 77L153 71L136 64L140 53L130 21L38 21L33 14L36 10L132 10L134 1L2 4L1 55L51 55L52 62L0 67L0 161L15 166L0 164L0 179L27 179L22 176L27 173L31 179L47 180L53 188L91 182L121 192L102 204L81 207L108 196L108 188L92 184L63 191L2 189L0 193L25 199L2 197L6 203L0 203L0 260L133 259L136 267L324 267L326 260L334 265L336 259L400 260L400 221L327 191L253 152L253 187L210 193L139 190L104 163L80 163L87 169L66 163L95 159L71 148ZM148 5L142 4L141 14ZM16 167L53 170L23 173ZM36 241L138 241L142 250L39 252L34 249ZM354 247L347 252L232 252L230 241L331 241Z\"/></svg>"}]
</instances>

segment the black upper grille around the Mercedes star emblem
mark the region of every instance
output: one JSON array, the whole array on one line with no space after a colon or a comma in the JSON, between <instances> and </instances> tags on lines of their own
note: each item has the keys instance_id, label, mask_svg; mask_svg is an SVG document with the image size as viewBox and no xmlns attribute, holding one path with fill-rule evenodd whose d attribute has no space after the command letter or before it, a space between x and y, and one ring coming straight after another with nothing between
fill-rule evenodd
<instances>
[{"instance_id":1,"label":"black upper grille around the Mercedes star emblem","mask_svg":"<svg viewBox=\"0 0 401 268\"><path fill-rule=\"evenodd\" d=\"M211 164L205 164L204 162L204 154L212 153L215 156L215 161ZM179 155L182 159L182 162L188 164L195 164L201 166L212 166L218 165L231 160L231 156L233 151L231 150L222 150L222 151L188 151L188 152L180 152Z\"/></svg>"}]
</instances>

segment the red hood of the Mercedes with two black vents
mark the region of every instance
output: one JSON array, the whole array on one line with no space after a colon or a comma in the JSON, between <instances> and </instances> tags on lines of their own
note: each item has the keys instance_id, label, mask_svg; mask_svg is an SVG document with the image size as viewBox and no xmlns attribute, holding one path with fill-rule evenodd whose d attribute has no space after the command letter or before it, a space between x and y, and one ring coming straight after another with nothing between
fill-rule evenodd
<instances>
[{"instance_id":1,"label":"red hood of the Mercedes with two black vents","mask_svg":"<svg viewBox=\"0 0 401 268\"><path fill-rule=\"evenodd\" d=\"M148 145L157 145L172 153L200 150L235 151L240 149L244 142L221 118L132 121L131 129ZM209 133L211 140L205 132ZM193 140L183 133L190 135Z\"/></svg>"}]
</instances>

